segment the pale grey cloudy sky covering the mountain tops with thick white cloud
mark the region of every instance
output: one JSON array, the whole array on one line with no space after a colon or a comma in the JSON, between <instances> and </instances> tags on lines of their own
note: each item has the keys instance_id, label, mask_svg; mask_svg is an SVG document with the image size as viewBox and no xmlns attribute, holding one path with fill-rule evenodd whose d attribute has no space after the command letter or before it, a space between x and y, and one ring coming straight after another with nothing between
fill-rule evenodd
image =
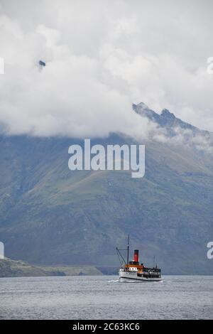
<instances>
[{"instance_id":1,"label":"pale grey cloudy sky covering the mountain tops with thick white cloud","mask_svg":"<svg viewBox=\"0 0 213 334\"><path fill-rule=\"evenodd\" d=\"M212 12L212 0L0 0L1 131L146 134L139 102L213 131Z\"/></svg>"}]
</instances>

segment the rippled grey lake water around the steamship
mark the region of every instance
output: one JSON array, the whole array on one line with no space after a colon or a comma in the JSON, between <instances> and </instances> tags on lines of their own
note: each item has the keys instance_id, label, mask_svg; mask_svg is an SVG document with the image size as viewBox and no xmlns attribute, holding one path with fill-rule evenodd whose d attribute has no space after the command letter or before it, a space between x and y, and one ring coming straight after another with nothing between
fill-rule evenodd
<instances>
[{"instance_id":1,"label":"rippled grey lake water around the steamship","mask_svg":"<svg viewBox=\"0 0 213 334\"><path fill-rule=\"evenodd\" d=\"M1 319L212 319L213 276L164 276L119 283L117 276L0 279Z\"/></svg>"}]
</instances>

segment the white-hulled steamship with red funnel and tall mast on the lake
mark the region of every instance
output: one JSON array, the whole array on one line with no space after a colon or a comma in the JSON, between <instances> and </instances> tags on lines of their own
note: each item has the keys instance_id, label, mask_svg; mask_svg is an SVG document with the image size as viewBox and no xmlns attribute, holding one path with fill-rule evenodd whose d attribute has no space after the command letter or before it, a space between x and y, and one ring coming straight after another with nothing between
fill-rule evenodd
<instances>
[{"instance_id":1,"label":"white-hulled steamship with red funnel and tall mast on the lake","mask_svg":"<svg viewBox=\"0 0 213 334\"><path fill-rule=\"evenodd\" d=\"M121 254L121 250L127 251L126 260ZM129 261L129 236L126 249L118 249L118 253L121 268L119 269L119 281L161 281L161 269L158 268L157 264L153 268L143 266L143 263L139 263L138 249L134 250L133 261Z\"/></svg>"}]
</instances>

